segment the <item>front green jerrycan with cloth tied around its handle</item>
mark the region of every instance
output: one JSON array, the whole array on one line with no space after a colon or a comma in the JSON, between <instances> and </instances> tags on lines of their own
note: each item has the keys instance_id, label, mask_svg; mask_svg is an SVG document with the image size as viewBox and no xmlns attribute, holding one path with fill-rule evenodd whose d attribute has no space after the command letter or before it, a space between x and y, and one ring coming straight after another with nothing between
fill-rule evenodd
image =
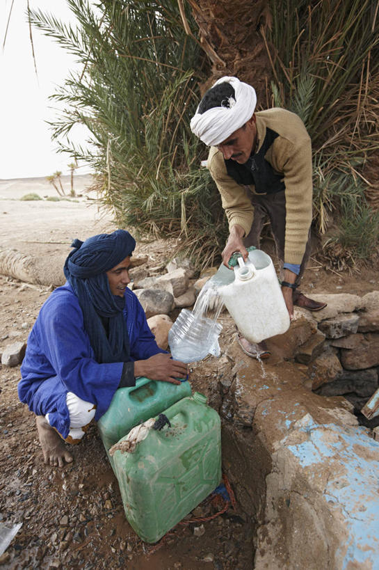
<instances>
[{"instance_id":1,"label":"front green jerrycan with cloth tied around its handle","mask_svg":"<svg viewBox=\"0 0 379 570\"><path fill-rule=\"evenodd\" d=\"M171 427L150 429L132 453L115 451L125 515L146 542L161 539L220 484L220 416L206 402L197 392L179 400L163 411Z\"/></svg>"}]
</instances>

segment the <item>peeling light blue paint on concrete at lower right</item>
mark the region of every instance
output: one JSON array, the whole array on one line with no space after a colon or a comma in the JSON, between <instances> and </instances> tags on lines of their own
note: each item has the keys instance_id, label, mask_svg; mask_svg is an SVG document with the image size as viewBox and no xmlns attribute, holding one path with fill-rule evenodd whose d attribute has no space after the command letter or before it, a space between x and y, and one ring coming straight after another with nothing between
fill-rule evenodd
<instances>
[{"instance_id":1,"label":"peeling light blue paint on concrete at lower right","mask_svg":"<svg viewBox=\"0 0 379 570\"><path fill-rule=\"evenodd\" d=\"M290 415L284 420L287 429ZM379 443L364 427L319 425L310 415L296 422L295 429L306 437L286 447L300 466L315 477L321 468L324 473L329 470L325 500L331 512L342 512L348 533L337 552L337 559L343 559L341 568L363 565L379 570Z\"/></svg>"}]
</instances>

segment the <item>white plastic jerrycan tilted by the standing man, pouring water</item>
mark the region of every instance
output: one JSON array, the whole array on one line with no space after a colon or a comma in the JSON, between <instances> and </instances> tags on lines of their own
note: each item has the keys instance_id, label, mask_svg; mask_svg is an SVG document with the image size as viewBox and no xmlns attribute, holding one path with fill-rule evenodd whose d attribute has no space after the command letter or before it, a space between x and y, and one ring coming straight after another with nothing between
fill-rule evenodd
<instances>
[{"instance_id":1,"label":"white plastic jerrycan tilted by the standing man, pouring water","mask_svg":"<svg viewBox=\"0 0 379 570\"><path fill-rule=\"evenodd\" d=\"M289 313L271 258L256 249L246 263L242 257L238 262L234 280L219 292L239 332L250 342L285 333Z\"/></svg>"}]
</instances>

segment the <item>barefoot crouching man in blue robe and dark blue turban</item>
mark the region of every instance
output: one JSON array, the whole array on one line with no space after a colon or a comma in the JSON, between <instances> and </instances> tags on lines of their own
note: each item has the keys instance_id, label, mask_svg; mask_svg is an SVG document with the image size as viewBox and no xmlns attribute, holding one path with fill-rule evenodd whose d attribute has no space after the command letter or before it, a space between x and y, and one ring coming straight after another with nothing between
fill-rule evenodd
<instances>
[{"instance_id":1,"label":"barefoot crouching man in blue robe and dark blue turban","mask_svg":"<svg viewBox=\"0 0 379 570\"><path fill-rule=\"evenodd\" d=\"M42 306L29 335L18 393L37 416L45 464L63 466L92 419L136 377L179 384L187 366L156 345L145 312L127 287L136 242L129 232L76 239L67 283ZM61 436L61 437L60 437Z\"/></svg>"}]
</instances>

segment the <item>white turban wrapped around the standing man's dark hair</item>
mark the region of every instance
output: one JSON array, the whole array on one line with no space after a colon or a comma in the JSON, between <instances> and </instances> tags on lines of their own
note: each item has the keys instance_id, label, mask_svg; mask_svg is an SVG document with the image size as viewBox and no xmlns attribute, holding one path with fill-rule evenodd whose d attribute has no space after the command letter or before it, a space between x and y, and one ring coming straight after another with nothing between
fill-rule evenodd
<instances>
[{"instance_id":1,"label":"white turban wrapped around the standing man's dark hair","mask_svg":"<svg viewBox=\"0 0 379 570\"><path fill-rule=\"evenodd\" d=\"M229 83L234 88L236 98L229 97L229 107L213 107L199 113L199 107L191 119L191 131L208 146L216 146L225 141L234 131L243 127L254 113L257 104L255 88L236 77L221 77L212 88L220 83Z\"/></svg>"}]
</instances>

